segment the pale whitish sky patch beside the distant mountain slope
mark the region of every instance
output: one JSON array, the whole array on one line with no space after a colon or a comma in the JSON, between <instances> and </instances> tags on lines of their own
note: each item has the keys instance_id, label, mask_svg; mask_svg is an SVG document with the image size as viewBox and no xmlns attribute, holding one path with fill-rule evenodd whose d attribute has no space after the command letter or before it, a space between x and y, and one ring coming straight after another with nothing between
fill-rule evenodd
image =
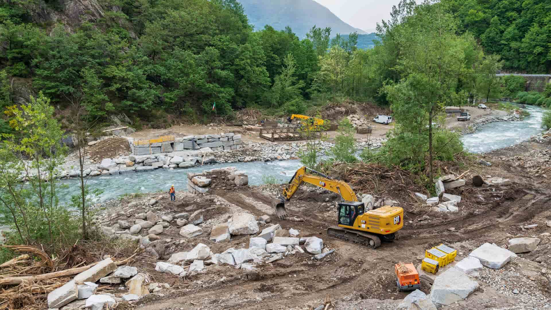
<instances>
[{"instance_id":1,"label":"pale whitish sky patch beside the distant mountain slope","mask_svg":"<svg viewBox=\"0 0 551 310\"><path fill-rule=\"evenodd\" d=\"M344 22L365 31L375 31L377 22L390 18L392 6L399 0L315 0Z\"/></svg>"}]
</instances>

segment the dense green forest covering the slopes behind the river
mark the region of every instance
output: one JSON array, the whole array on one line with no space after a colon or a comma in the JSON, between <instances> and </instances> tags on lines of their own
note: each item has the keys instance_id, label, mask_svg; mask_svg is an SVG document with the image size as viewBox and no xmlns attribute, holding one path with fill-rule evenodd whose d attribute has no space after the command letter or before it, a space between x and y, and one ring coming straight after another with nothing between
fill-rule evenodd
<instances>
[{"instance_id":1,"label":"dense green forest covering the slopes behind the river","mask_svg":"<svg viewBox=\"0 0 551 310\"><path fill-rule=\"evenodd\" d=\"M502 88L496 70L551 68L549 0L402 1L379 23L372 49L358 49L356 33L316 25L305 39L289 27L253 31L236 0L101 0L100 6L101 18L82 17L68 29L36 20L38 10L63 10L60 3L2 3L3 108L40 91L56 110L78 101L99 119L125 111L146 121L174 115L204 122L250 107L303 113L343 98L389 105L386 89L414 72L404 57L428 48L419 46L423 38L415 31L428 28L417 19L433 7L446 18L447 36L430 48L446 46L463 60L446 72L455 77L446 100L473 103L504 89L514 96L522 87Z\"/></svg>"}]
</instances>

